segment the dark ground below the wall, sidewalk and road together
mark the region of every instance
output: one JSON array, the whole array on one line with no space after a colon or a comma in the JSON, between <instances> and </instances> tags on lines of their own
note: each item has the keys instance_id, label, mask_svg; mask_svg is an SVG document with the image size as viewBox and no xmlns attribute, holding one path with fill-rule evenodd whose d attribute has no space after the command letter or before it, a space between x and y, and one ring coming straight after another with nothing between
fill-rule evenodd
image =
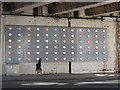
<instances>
[{"instance_id":1,"label":"dark ground below the wall, sidewalk and road together","mask_svg":"<svg viewBox=\"0 0 120 90\"><path fill-rule=\"evenodd\" d=\"M118 90L120 73L2 76L2 88L110 88Z\"/></svg>"}]
</instances>

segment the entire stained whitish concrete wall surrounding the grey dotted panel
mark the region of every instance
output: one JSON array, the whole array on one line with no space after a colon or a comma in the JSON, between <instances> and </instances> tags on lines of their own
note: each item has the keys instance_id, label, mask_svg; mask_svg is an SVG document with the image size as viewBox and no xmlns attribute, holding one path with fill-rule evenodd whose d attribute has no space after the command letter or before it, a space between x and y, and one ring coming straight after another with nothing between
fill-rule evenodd
<instances>
[{"instance_id":1,"label":"entire stained whitish concrete wall surrounding the grey dotted panel","mask_svg":"<svg viewBox=\"0 0 120 90\"><path fill-rule=\"evenodd\" d=\"M27 17L27 16L3 16L3 46L4 44L4 26L5 25L43 25L43 26L68 26L68 20L65 18L54 19L49 17ZM100 27L108 28L108 61L107 62L72 62L72 73L101 73L115 71L116 60L116 24L113 20L87 20L87 19L72 19L71 26L73 27ZM5 52L3 53L3 74L35 74L35 63L21 63L20 65L5 65ZM68 62L44 62L42 63L43 73L69 73Z\"/></svg>"}]
</instances>

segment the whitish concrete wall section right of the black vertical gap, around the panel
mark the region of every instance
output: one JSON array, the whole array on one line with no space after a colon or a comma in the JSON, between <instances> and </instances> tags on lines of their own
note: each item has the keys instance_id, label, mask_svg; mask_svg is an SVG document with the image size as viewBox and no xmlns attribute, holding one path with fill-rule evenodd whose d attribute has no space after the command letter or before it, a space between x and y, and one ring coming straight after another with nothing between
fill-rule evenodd
<instances>
[{"instance_id":1,"label":"whitish concrete wall section right of the black vertical gap, around the panel","mask_svg":"<svg viewBox=\"0 0 120 90\"><path fill-rule=\"evenodd\" d=\"M78 20L72 19L71 26L73 27L98 27L107 28L107 47L108 61L107 62L72 62L72 73L100 73L114 72L116 64L116 23L113 19L107 18L101 20ZM105 70L105 71L104 71Z\"/></svg>"}]
</instances>

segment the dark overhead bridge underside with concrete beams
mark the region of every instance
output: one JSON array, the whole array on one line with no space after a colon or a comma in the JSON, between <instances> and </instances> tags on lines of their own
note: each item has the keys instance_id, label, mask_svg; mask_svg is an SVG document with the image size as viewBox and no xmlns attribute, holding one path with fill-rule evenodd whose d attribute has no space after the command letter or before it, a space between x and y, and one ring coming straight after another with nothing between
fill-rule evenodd
<instances>
[{"instance_id":1,"label":"dark overhead bridge underside with concrete beams","mask_svg":"<svg viewBox=\"0 0 120 90\"><path fill-rule=\"evenodd\" d=\"M22 14L27 10L43 6L47 7L48 15L64 15L80 10L84 10L85 16L99 16L116 12L119 15L120 11L120 0L102 2L3 2L2 5L3 14Z\"/></svg>"}]
</instances>

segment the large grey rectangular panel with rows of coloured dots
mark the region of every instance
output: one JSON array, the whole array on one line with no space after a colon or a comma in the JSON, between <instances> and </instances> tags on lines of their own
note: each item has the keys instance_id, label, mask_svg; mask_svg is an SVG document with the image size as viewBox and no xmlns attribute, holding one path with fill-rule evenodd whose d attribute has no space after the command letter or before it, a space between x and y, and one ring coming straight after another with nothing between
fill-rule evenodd
<instances>
[{"instance_id":1,"label":"large grey rectangular panel with rows of coloured dots","mask_svg":"<svg viewBox=\"0 0 120 90\"><path fill-rule=\"evenodd\" d=\"M10 33L12 36L9 36ZM98 37L95 37L96 35ZM10 39L12 42L9 42ZM32 63L37 62L39 58L42 58L43 62L107 61L105 28L7 25L5 41L6 63ZM9 55L9 52L12 54ZM12 60L9 61L8 58Z\"/></svg>"}]
</instances>

